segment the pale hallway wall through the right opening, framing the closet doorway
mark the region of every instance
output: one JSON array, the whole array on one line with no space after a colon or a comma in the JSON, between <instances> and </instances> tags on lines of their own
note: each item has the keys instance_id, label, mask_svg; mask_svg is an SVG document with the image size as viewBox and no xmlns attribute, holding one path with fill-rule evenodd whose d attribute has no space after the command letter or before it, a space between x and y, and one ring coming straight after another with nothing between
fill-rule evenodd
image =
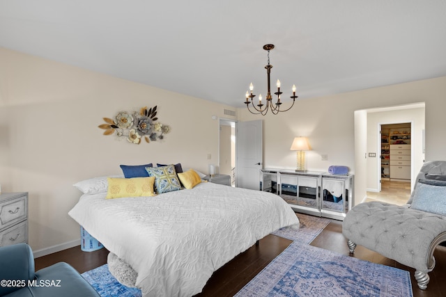
<instances>
[{"instance_id":1,"label":"pale hallway wall through the right opening, framing the closet doorway","mask_svg":"<svg viewBox=\"0 0 446 297\"><path fill-rule=\"evenodd\" d=\"M415 104L419 106L420 104ZM412 149L412 175L411 181L415 182L415 177L420 171L424 161L424 153L422 152L422 133L424 129L424 107L394 111L367 113L367 152L376 152L376 158L367 158L367 191L378 191L378 177L380 176L380 135L378 134L379 125L394 124L399 122L411 122L413 134L410 135L410 144ZM379 164L379 166L378 166Z\"/></svg>"}]
</instances>

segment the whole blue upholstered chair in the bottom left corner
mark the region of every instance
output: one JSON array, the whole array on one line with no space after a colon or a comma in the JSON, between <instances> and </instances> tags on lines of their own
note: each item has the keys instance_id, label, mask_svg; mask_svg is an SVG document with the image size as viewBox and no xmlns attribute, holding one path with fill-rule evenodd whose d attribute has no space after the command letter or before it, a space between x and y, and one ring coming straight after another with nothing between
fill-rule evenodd
<instances>
[{"instance_id":1,"label":"whole blue upholstered chair in the bottom left corner","mask_svg":"<svg viewBox=\"0 0 446 297\"><path fill-rule=\"evenodd\" d=\"M100 297L91 284L65 262L34 271L33 251L26 243L0 248L0 296Z\"/></svg>"}]
</instances>

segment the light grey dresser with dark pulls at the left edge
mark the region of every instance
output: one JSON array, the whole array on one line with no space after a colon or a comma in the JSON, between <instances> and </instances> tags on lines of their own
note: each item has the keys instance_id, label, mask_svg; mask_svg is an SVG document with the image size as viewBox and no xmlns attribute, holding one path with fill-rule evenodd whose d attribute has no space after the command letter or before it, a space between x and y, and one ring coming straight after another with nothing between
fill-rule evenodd
<instances>
[{"instance_id":1,"label":"light grey dresser with dark pulls at the left edge","mask_svg":"<svg viewBox=\"0 0 446 297\"><path fill-rule=\"evenodd\" d=\"M0 194L0 246L28 243L28 193Z\"/></svg>"}]
</instances>

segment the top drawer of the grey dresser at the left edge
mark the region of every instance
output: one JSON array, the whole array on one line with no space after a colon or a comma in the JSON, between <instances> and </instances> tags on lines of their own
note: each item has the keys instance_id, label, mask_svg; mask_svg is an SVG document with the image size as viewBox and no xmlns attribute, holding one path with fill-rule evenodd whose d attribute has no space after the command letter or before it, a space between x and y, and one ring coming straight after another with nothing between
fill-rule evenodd
<instances>
[{"instance_id":1,"label":"top drawer of the grey dresser at the left edge","mask_svg":"<svg viewBox=\"0 0 446 297\"><path fill-rule=\"evenodd\" d=\"M0 230L15 223L25 220L28 211L26 195L15 199L3 200L0 202Z\"/></svg>"}]
</instances>

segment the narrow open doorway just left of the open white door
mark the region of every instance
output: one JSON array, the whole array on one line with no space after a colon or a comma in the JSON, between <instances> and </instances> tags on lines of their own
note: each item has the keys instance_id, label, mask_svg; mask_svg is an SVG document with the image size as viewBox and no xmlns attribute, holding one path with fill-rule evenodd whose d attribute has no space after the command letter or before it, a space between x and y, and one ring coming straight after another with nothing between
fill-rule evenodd
<instances>
[{"instance_id":1,"label":"narrow open doorway just left of the open white door","mask_svg":"<svg viewBox=\"0 0 446 297\"><path fill-rule=\"evenodd\" d=\"M219 172L231 177L231 186L236 181L236 121L220 119L220 145L218 154Z\"/></svg>"}]
</instances>

